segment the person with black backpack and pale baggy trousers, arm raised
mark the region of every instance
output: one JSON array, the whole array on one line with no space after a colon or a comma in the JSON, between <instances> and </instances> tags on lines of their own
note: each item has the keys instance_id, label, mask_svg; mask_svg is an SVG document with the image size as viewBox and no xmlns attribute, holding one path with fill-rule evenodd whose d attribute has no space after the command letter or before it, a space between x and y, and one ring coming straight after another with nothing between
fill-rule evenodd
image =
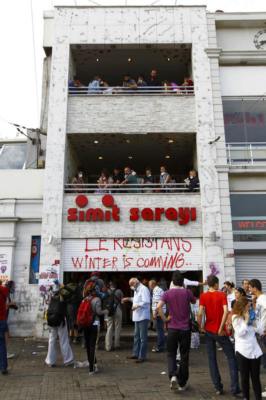
<instances>
[{"instance_id":1,"label":"person with black backpack and pale baggy trousers, arm raised","mask_svg":"<svg viewBox=\"0 0 266 400\"><path fill-rule=\"evenodd\" d=\"M62 294L61 289L68 291L67 294ZM61 354L65 366L74 363L75 359L68 342L67 325L66 325L66 300L75 294L71 287L64 286L62 283L54 284L52 288L53 297L51 298L47 309L46 317L49 328L49 343L48 353L45 358L46 364L49 367L54 366L56 361L55 340L59 336L59 344Z\"/></svg>"}]
</instances>

